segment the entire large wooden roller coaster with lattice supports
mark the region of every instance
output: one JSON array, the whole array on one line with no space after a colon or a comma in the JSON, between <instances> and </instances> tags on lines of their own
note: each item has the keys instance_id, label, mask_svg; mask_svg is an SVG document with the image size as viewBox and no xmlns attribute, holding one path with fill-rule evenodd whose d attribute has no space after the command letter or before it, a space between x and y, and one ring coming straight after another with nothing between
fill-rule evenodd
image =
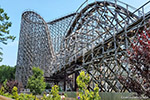
<instances>
[{"instance_id":1,"label":"entire large wooden roller coaster with lattice supports","mask_svg":"<svg viewBox=\"0 0 150 100\"><path fill-rule=\"evenodd\" d=\"M16 79L26 86L36 66L44 70L46 81L63 81L65 90L68 76L76 78L84 70L91 76L91 89L98 84L103 92L130 91L118 76L130 76L127 50L139 30L149 26L149 2L136 9L117 0L85 1L75 13L50 22L33 11L24 12Z\"/></svg>"}]
</instances>

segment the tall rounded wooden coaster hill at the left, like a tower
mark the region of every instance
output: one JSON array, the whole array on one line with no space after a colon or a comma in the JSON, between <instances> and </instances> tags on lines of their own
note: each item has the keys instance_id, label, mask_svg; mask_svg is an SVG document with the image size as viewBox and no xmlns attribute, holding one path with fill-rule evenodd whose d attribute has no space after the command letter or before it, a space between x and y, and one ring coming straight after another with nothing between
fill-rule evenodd
<instances>
[{"instance_id":1,"label":"tall rounded wooden coaster hill at the left, like a tower","mask_svg":"<svg viewBox=\"0 0 150 100\"><path fill-rule=\"evenodd\" d=\"M32 11L22 14L16 79L26 85L32 67L40 67L45 76L54 56L48 26L43 18Z\"/></svg>"}]
</instances>

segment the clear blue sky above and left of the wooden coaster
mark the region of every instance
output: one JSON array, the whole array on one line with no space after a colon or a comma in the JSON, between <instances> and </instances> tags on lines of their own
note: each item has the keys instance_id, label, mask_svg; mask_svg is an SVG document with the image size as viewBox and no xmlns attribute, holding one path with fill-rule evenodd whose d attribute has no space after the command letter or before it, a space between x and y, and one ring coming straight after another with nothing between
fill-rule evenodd
<instances>
[{"instance_id":1,"label":"clear blue sky above and left of the wooden coaster","mask_svg":"<svg viewBox=\"0 0 150 100\"><path fill-rule=\"evenodd\" d=\"M12 22L10 34L16 36L14 42L9 41L8 45L0 44L0 47L3 48L3 61L0 62L0 65L16 65L21 15L24 11L35 11L48 22L76 11L84 1L85 0L0 0L0 7L7 12ZM92 1L94 0L89 0L89 2ZM121 1L138 8L148 0Z\"/></svg>"}]
</instances>

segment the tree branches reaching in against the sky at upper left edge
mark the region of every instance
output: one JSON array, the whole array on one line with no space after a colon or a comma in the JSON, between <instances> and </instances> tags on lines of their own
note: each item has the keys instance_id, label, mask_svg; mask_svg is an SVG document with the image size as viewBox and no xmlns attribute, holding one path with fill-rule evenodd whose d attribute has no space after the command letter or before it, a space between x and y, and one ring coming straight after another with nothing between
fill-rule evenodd
<instances>
[{"instance_id":1,"label":"tree branches reaching in against the sky at upper left edge","mask_svg":"<svg viewBox=\"0 0 150 100\"><path fill-rule=\"evenodd\" d=\"M8 40L14 40L15 37L9 35L9 27L11 27L11 22L9 22L9 17L7 13L4 12L4 9L0 8L0 43L7 44ZM0 47L2 50L2 48ZM2 61L3 53L0 51L0 62Z\"/></svg>"}]
</instances>

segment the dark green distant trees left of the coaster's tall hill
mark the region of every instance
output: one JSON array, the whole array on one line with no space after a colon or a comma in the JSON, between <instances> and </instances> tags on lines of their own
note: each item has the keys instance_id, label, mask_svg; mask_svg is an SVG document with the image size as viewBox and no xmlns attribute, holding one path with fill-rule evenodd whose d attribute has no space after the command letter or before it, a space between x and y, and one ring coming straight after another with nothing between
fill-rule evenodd
<instances>
[{"instance_id":1,"label":"dark green distant trees left of the coaster's tall hill","mask_svg":"<svg viewBox=\"0 0 150 100\"><path fill-rule=\"evenodd\" d=\"M14 80L15 71L16 67L10 67L6 65L0 66L0 83L3 83L5 80Z\"/></svg>"}]
</instances>

